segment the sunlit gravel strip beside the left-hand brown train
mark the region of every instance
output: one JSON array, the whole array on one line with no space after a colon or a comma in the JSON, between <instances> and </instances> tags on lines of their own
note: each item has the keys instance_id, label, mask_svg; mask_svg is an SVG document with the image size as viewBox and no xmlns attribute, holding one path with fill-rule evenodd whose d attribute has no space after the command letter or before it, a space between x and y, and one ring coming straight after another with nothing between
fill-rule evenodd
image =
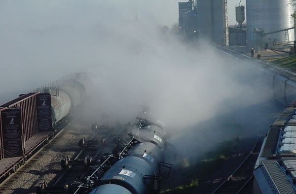
<instances>
[{"instance_id":1,"label":"sunlit gravel strip beside the left-hand brown train","mask_svg":"<svg viewBox=\"0 0 296 194\"><path fill-rule=\"evenodd\" d=\"M9 180L12 182L3 194L35 193L35 187L40 183L47 181L51 184L63 172L60 161L67 156L71 158L81 150L78 140L86 137L87 132L91 132L87 126L79 125L77 120L74 120L56 137L56 141L54 139L44 148L40 158L28 163L30 168L21 169Z\"/></svg>"}]
</instances>

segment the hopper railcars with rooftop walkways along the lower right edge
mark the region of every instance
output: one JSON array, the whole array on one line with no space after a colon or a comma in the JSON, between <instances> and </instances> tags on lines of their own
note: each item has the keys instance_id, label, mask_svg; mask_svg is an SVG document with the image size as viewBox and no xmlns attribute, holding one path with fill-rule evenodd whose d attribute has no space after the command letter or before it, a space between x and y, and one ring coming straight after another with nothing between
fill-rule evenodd
<instances>
[{"instance_id":1,"label":"hopper railcars with rooftop walkways along the lower right edge","mask_svg":"<svg viewBox=\"0 0 296 194\"><path fill-rule=\"evenodd\" d=\"M253 171L253 193L296 193L296 100L270 126Z\"/></svg>"}]
</instances>

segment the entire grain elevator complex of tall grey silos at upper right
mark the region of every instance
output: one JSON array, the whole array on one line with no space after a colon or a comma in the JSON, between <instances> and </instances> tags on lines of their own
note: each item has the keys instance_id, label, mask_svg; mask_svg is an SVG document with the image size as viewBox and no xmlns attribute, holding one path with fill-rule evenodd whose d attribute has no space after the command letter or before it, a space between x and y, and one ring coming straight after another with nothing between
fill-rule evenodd
<instances>
[{"instance_id":1,"label":"entire grain elevator complex of tall grey silos at upper right","mask_svg":"<svg viewBox=\"0 0 296 194\"><path fill-rule=\"evenodd\" d=\"M246 7L241 4L235 7L237 29L228 28L227 0L179 2L180 33L187 41L198 37L220 46L247 45L257 51L278 48L273 43L293 44L294 7L289 2L246 0ZM245 9L247 25L243 26Z\"/></svg>"}]
</instances>

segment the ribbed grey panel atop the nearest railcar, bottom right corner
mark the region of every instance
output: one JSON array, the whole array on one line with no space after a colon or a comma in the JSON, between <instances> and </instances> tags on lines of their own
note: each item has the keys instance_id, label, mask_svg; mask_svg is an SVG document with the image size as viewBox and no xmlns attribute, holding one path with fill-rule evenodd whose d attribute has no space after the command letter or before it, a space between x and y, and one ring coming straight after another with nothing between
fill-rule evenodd
<instances>
[{"instance_id":1,"label":"ribbed grey panel atop the nearest railcar, bottom right corner","mask_svg":"<svg viewBox=\"0 0 296 194\"><path fill-rule=\"evenodd\" d=\"M296 190L276 160L262 161L268 175L280 194L295 194Z\"/></svg>"}]
</instances>

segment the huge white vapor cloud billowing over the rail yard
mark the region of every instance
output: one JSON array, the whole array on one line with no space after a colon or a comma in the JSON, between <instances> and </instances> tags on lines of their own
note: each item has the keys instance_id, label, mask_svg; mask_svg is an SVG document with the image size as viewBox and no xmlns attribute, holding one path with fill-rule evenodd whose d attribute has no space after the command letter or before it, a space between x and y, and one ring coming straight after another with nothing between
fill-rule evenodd
<instances>
[{"instance_id":1,"label":"huge white vapor cloud billowing over the rail yard","mask_svg":"<svg viewBox=\"0 0 296 194\"><path fill-rule=\"evenodd\" d=\"M26 92L86 71L92 79L86 121L129 122L145 105L166 130L268 97L252 85L247 62L225 58L202 40L180 40L166 15L178 11L177 0L153 2L1 1L0 88Z\"/></svg>"}]
</instances>

